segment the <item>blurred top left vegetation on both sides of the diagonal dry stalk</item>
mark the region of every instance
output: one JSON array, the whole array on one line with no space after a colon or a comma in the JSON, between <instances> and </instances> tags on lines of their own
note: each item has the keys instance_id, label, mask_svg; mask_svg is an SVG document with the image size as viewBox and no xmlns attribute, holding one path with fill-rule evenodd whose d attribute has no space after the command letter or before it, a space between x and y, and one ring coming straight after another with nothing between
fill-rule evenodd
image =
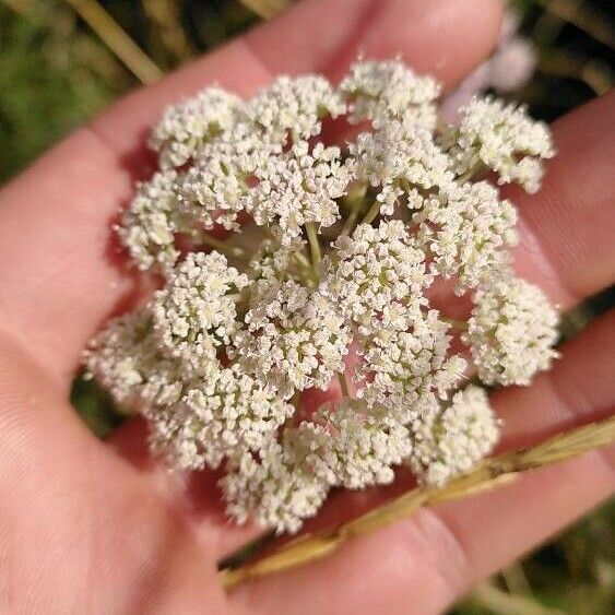
<instances>
[{"instance_id":1,"label":"blurred top left vegetation on both sides of the diagonal dry stalk","mask_svg":"<svg viewBox=\"0 0 615 615\"><path fill-rule=\"evenodd\" d=\"M257 21L239 2L102 5L163 71ZM138 84L70 3L0 0L0 182Z\"/></svg>"}]
</instances>

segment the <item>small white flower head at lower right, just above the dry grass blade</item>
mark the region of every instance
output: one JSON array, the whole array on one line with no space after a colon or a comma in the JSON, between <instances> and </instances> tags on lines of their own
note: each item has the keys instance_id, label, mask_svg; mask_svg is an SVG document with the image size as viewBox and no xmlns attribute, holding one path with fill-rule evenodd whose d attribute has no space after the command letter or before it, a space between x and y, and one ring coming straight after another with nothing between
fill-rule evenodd
<instances>
[{"instance_id":1,"label":"small white flower head at lower right, just above the dry grass blade","mask_svg":"<svg viewBox=\"0 0 615 615\"><path fill-rule=\"evenodd\" d=\"M468 472L499 439L499 421L480 387L457 392L450 405L411 424L407 463L421 483L441 486Z\"/></svg>"}]
</instances>

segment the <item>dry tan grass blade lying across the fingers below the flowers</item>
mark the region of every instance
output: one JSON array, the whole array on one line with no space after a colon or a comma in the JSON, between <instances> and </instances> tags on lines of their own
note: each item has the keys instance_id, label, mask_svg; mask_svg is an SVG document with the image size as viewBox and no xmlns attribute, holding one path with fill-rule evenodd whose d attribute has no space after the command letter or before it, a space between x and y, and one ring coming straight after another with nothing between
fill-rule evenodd
<instances>
[{"instance_id":1,"label":"dry tan grass blade lying across the fingers below the flowers","mask_svg":"<svg viewBox=\"0 0 615 615\"><path fill-rule=\"evenodd\" d=\"M523 472L571 459L615 442L615 416L559 434L535 447L519 449L485 460L473 471L448 485L418 487L346 523L308 534L272 555L236 569L221 570L226 589L251 579L327 557L353 536L372 532L411 516L424 505L459 499L513 481Z\"/></svg>"}]
</instances>

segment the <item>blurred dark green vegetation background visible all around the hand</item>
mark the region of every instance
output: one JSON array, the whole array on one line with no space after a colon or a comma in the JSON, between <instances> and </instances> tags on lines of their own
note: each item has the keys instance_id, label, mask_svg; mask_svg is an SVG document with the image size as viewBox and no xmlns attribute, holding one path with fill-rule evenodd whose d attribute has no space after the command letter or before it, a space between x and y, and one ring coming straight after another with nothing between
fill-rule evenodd
<instances>
[{"instance_id":1,"label":"blurred dark green vegetation background visible all around the hand","mask_svg":"<svg viewBox=\"0 0 615 615\"><path fill-rule=\"evenodd\" d=\"M0 0L0 182L139 84L135 73L146 81L157 69L169 71L257 23L255 7L267 13L285 3ZM516 0L513 4L522 15L522 33L540 54L534 78L515 96L534 116L552 120L612 86L613 0ZM100 7L110 20L105 13L100 16ZM109 21L111 31L119 25L128 35L128 47L113 43ZM575 330L614 305L611 289L576 312L568 328ZM94 382L76 379L72 402L99 436L122 421ZM615 504L483 583L451 613L615 613Z\"/></svg>"}]
</instances>

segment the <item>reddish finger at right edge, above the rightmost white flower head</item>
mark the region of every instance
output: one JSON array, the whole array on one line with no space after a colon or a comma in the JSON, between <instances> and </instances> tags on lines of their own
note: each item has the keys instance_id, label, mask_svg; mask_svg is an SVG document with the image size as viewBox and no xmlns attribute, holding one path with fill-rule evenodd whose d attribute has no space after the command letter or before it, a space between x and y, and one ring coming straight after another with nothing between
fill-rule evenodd
<instances>
[{"instance_id":1,"label":"reddish finger at right edge, above the rightmost white flower head","mask_svg":"<svg viewBox=\"0 0 615 615\"><path fill-rule=\"evenodd\" d=\"M567 309L615 281L615 92L554 126L557 155L537 194L510 190L521 214L516 264Z\"/></svg>"}]
</instances>

